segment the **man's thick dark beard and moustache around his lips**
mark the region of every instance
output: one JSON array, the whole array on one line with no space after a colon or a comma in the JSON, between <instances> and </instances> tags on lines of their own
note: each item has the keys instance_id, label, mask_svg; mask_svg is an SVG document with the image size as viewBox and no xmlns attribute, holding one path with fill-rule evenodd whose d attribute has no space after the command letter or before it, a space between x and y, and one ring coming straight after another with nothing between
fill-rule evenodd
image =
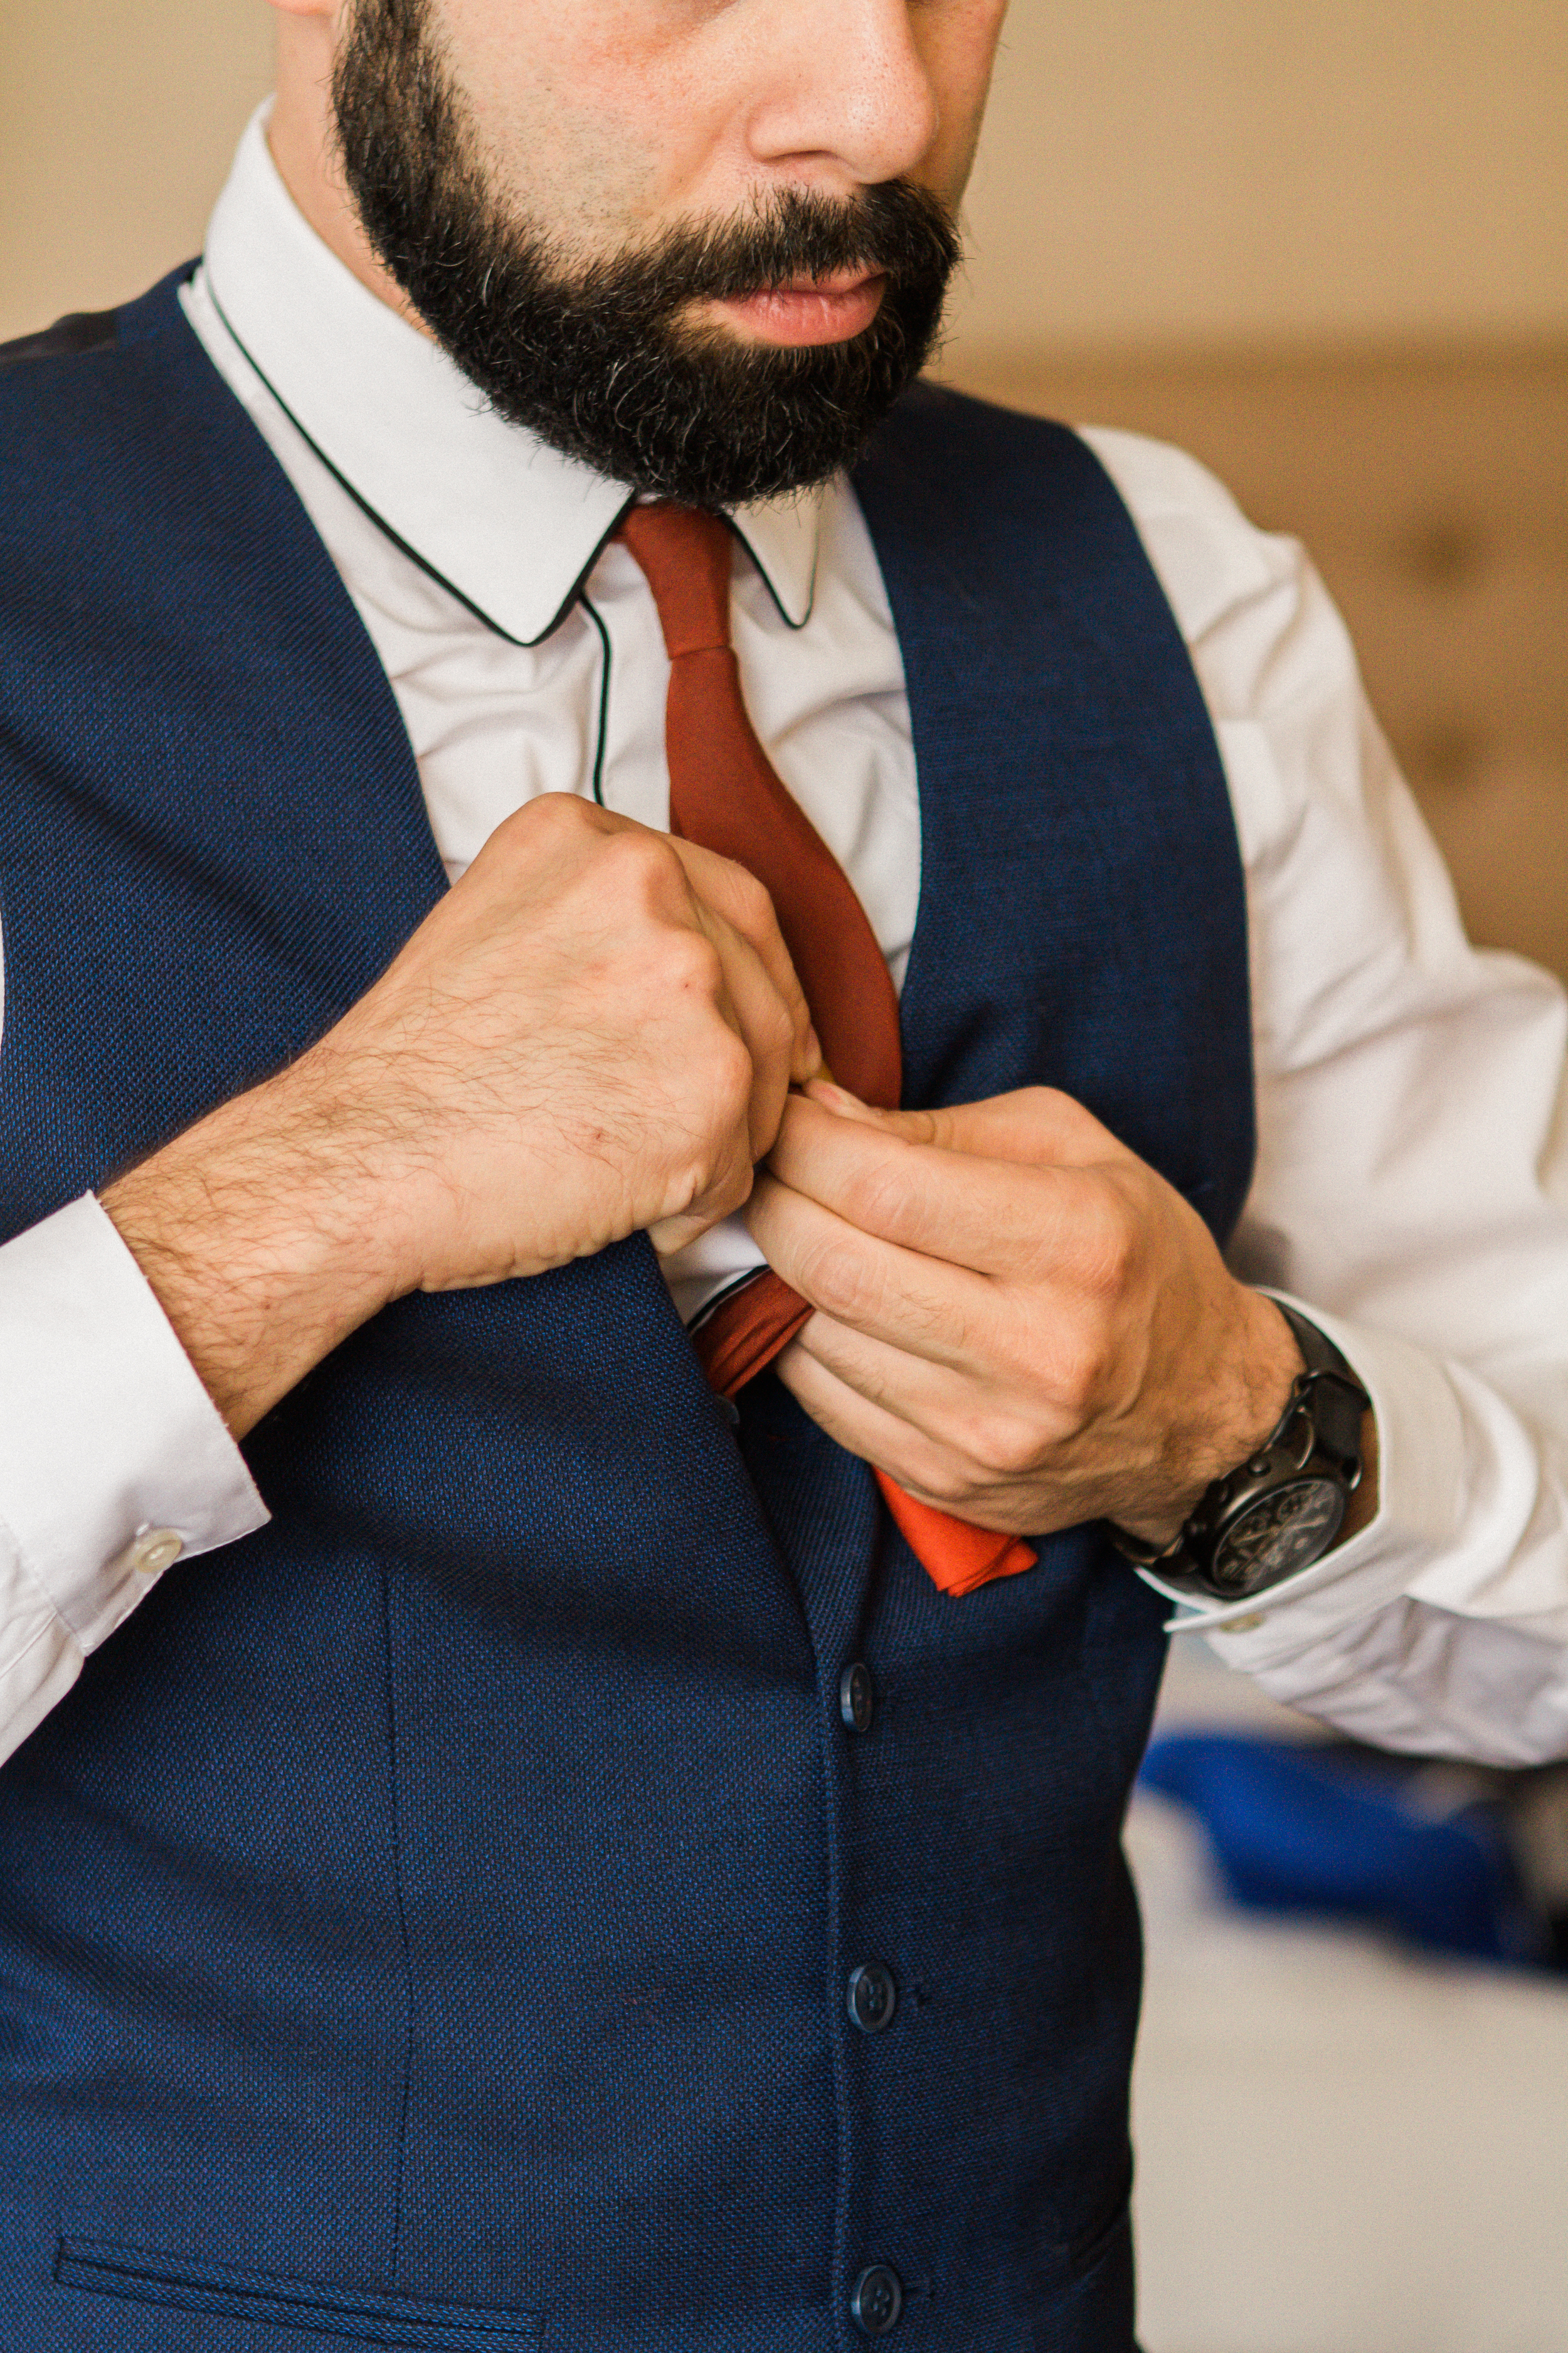
<instances>
[{"instance_id":1,"label":"man's thick dark beard and moustache around his lips","mask_svg":"<svg viewBox=\"0 0 1568 2353\"><path fill-rule=\"evenodd\" d=\"M682 506L741 506L851 466L919 374L959 242L907 181L853 202L783 191L750 216L672 228L576 275L503 216L425 0L362 0L334 75L364 231L491 407L597 473ZM682 325L693 299L884 271L870 327L806 351Z\"/></svg>"}]
</instances>

